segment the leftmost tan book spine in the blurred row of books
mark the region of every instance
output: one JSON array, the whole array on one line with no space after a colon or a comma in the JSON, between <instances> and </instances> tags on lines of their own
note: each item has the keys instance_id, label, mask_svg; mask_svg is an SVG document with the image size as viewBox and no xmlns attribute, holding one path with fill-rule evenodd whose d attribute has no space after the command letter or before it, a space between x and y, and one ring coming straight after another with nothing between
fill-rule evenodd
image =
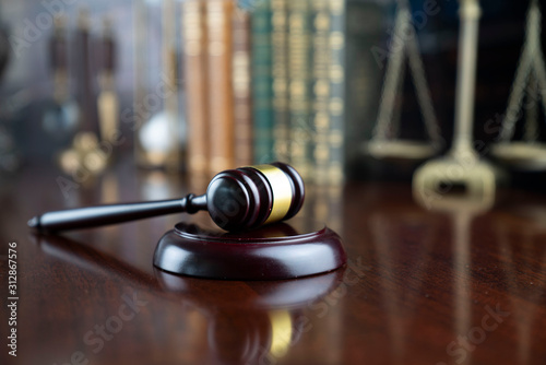
<instances>
[{"instance_id":1,"label":"leftmost tan book spine in the blurred row of books","mask_svg":"<svg viewBox=\"0 0 546 365\"><path fill-rule=\"evenodd\" d=\"M183 75L187 87L188 168L203 175L209 169L209 105L204 2L182 2Z\"/></svg>"}]
</instances>

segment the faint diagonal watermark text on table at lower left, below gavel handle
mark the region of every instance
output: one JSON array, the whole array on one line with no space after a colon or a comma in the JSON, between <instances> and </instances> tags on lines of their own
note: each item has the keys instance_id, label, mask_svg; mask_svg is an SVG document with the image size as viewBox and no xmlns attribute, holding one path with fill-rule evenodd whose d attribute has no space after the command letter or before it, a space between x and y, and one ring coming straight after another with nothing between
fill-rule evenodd
<instances>
[{"instance_id":1,"label":"faint diagonal watermark text on table at lower left, below gavel handle","mask_svg":"<svg viewBox=\"0 0 546 365\"><path fill-rule=\"evenodd\" d=\"M111 341L115 335L123 329L124 323L136 317L143 307L147 305L142 295L131 289L132 293L121 295L123 304L118 307L116 315L108 317L104 323L95 327L83 334L83 343L88 346L93 354L98 354L105 348L106 342ZM88 352L87 352L88 353ZM74 351L70 358L54 365L87 365L88 356L83 351Z\"/></svg>"}]
</instances>

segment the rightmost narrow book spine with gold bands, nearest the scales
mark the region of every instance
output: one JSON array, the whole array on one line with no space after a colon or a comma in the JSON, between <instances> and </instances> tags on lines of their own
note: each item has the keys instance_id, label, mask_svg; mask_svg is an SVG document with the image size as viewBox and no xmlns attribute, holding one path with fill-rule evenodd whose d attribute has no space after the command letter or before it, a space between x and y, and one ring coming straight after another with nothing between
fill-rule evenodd
<instances>
[{"instance_id":1,"label":"rightmost narrow book spine with gold bands, nearest the scales","mask_svg":"<svg viewBox=\"0 0 546 365\"><path fill-rule=\"evenodd\" d=\"M345 168L345 1L330 0L329 182L343 184Z\"/></svg>"}]
</instances>

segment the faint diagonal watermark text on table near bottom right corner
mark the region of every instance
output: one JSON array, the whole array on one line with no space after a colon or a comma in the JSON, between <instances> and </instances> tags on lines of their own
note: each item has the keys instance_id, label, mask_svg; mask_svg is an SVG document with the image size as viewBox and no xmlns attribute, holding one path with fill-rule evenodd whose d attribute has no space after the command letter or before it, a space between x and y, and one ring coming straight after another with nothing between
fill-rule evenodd
<instances>
[{"instance_id":1,"label":"faint diagonal watermark text on table near bottom right corner","mask_svg":"<svg viewBox=\"0 0 546 365\"><path fill-rule=\"evenodd\" d=\"M452 363L462 364L470 353L487 340L489 333L495 331L510 316L510 311L502 310L500 304L495 309L486 305L486 314L482 317L479 326L475 326L465 335L459 334L456 340L451 341L446 346L446 354L451 357ZM439 362L436 365L448 365L447 362Z\"/></svg>"}]
</instances>

